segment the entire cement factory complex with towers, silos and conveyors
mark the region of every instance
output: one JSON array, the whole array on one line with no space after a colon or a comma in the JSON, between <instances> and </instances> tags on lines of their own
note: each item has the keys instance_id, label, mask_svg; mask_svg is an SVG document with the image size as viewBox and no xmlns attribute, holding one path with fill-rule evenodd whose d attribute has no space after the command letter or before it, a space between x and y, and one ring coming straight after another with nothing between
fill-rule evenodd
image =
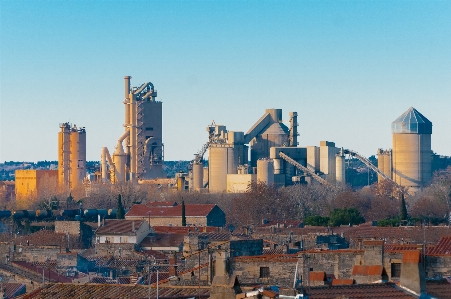
<instances>
[{"instance_id":1,"label":"entire cement factory complex with towers, silos and conveyors","mask_svg":"<svg viewBox=\"0 0 451 299\"><path fill-rule=\"evenodd\" d=\"M207 126L207 141L191 161L189 171L177 173L168 183L163 171L162 102L156 100L151 82L131 87L131 77L124 79L124 133L112 155L108 148L101 149L97 182L168 184L179 191L203 193L245 192L257 181L277 187L296 183L336 187L346 184L346 161L352 157L375 171L379 181L390 180L415 193L427 186L439 169L441 158L431 150L432 122L413 107L392 123L392 149L377 150L377 166L330 141L299 147L298 114L289 112L286 126L282 109L266 109L246 133L228 131L225 125L214 122ZM207 151L208 163L204 161ZM17 172L16 197L38 193L44 175L66 190L82 187L86 180L85 128L60 124L58 170L37 171Z\"/></svg>"}]
</instances>

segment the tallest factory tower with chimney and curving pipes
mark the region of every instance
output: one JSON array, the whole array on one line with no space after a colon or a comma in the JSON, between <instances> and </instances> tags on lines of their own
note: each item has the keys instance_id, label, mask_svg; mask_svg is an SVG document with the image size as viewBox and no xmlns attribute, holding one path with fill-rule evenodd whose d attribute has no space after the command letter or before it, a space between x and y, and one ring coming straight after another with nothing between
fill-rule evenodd
<instances>
[{"instance_id":1,"label":"tallest factory tower with chimney and curving pipes","mask_svg":"<svg viewBox=\"0 0 451 299\"><path fill-rule=\"evenodd\" d=\"M162 102L151 82L131 88L125 76L124 133L111 156L106 147L101 152L103 182L125 182L165 177L163 172Z\"/></svg>"}]
</instances>

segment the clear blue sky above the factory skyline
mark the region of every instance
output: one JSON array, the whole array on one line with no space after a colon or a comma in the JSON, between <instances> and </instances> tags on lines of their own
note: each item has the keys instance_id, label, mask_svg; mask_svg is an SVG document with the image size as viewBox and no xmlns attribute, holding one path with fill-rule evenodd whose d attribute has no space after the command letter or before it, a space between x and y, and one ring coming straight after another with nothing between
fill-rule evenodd
<instances>
[{"instance_id":1,"label":"clear blue sky above the factory skyline","mask_svg":"<svg viewBox=\"0 0 451 299\"><path fill-rule=\"evenodd\" d=\"M166 160L214 120L247 131L266 108L299 115L299 145L366 156L410 106L451 155L451 1L0 0L0 161L57 160L58 124L114 151L123 77L163 101Z\"/></svg>"}]
</instances>

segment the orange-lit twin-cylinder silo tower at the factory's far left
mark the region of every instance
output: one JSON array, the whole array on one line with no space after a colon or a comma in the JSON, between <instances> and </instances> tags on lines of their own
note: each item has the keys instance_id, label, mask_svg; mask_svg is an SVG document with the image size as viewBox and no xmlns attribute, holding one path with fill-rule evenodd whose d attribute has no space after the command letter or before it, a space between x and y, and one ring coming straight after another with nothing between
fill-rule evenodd
<instances>
[{"instance_id":1,"label":"orange-lit twin-cylinder silo tower at the factory's far left","mask_svg":"<svg viewBox=\"0 0 451 299\"><path fill-rule=\"evenodd\" d=\"M80 187L86 177L86 130L69 123L58 133L58 182L68 190Z\"/></svg>"}]
</instances>

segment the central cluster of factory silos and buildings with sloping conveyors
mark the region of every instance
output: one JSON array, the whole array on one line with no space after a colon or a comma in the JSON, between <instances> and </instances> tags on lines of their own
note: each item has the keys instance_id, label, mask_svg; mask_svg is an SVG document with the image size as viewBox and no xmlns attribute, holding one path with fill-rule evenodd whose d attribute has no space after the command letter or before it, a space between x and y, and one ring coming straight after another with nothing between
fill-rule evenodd
<instances>
[{"instance_id":1,"label":"central cluster of factory silos and buildings with sloping conveyors","mask_svg":"<svg viewBox=\"0 0 451 299\"><path fill-rule=\"evenodd\" d=\"M190 189L234 193L246 191L257 181L276 186L317 180L345 183L342 151L328 141L298 147L297 127L297 113L289 113L287 127L282 122L282 109L266 109L246 133L227 131L226 126L213 123L207 127L209 141L193 161ZM208 168L199 158L206 149Z\"/></svg>"}]
</instances>

